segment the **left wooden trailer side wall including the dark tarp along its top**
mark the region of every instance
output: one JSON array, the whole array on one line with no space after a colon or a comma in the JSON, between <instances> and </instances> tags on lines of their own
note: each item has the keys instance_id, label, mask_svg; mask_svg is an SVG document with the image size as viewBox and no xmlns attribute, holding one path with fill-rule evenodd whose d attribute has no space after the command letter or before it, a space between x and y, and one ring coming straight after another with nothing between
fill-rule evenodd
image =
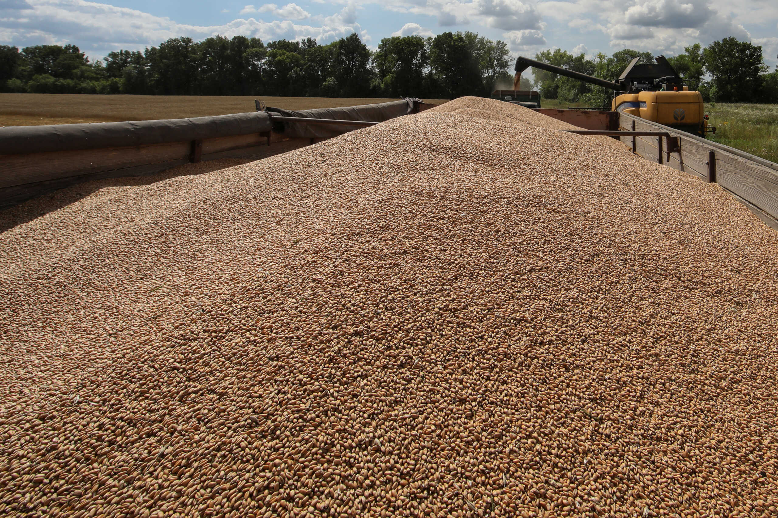
<instances>
[{"instance_id":1,"label":"left wooden trailer side wall including the dark tarp along its top","mask_svg":"<svg viewBox=\"0 0 778 518\"><path fill-rule=\"evenodd\" d=\"M416 111L434 106L413 103ZM344 118L338 112L349 111L352 115L367 113L380 122L397 116L398 110L405 114L408 101L331 111L336 119ZM83 124L37 127L32 131L4 128L0 135L0 143L5 144L0 151L0 207L93 179L150 175L187 162L217 158L261 159L334 136L303 138L288 127L286 133L275 133L272 127L267 114L236 113L187 120L108 123L105 127ZM342 133L356 129L338 127ZM96 134L96 130L103 134ZM95 140L96 137L99 138ZM41 138L49 144L44 151Z\"/></svg>"}]
</instances>

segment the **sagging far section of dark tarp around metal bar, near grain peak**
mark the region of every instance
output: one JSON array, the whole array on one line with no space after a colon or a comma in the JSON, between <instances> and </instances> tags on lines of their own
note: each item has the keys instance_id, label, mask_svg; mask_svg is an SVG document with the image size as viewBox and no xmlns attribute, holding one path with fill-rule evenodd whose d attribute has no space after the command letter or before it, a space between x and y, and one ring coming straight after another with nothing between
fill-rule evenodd
<instances>
[{"instance_id":1,"label":"sagging far section of dark tarp around metal bar, near grain peak","mask_svg":"<svg viewBox=\"0 0 778 518\"><path fill-rule=\"evenodd\" d=\"M345 106L342 108L317 108L316 110L282 110L268 107L268 112L282 116L306 117L310 119L366 120L369 122L384 122L398 116L417 113L419 99L402 99L391 103L365 104L363 106ZM287 120L274 123L274 131L290 138L330 138L337 137L348 131L357 130L356 126L325 123L296 123Z\"/></svg>"}]
</instances>

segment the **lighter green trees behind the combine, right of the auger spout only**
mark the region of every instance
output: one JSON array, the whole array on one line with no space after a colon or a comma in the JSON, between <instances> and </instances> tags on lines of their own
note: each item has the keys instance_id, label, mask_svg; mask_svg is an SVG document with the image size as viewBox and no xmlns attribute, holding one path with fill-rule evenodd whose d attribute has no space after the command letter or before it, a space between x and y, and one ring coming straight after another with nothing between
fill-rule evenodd
<instances>
[{"instance_id":1,"label":"lighter green trees behind the combine, right of the auger spout only","mask_svg":"<svg viewBox=\"0 0 778 518\"><path fill-rule=\"evenodd\" d=\"M584 54L573 55L566 50L544 50L535 59L559 67L615 81L635 57L639 63L655 63L650 52L624 49L612 56L597 54L587 59ZM714 41L707 47L695 43L685 47L684 54L668 57L675 71L689 85L698 90L706 102L724 103L778 103L778 67L769 72L762 56L762 47L729 37ZM537 85L545 99L559 99L568 103L586 103L590 106L610 106L612 91L566 78L547 71L534 71Z\"/></svg>"}]
</instances>

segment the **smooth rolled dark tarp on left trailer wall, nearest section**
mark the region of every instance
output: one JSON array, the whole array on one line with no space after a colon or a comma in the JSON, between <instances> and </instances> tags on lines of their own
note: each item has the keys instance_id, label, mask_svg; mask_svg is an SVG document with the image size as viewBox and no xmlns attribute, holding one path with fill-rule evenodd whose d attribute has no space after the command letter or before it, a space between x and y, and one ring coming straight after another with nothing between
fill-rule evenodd
<instances>
[{"instance_id":1,"label":"smooth rolled dark tarp on left trailer wall, nearest section","mask_svg":"<svg viewBox=\"0 0 778 518\"><path fill-rule=\"evenodd\" d=\"M264 112L191 119L0 127L0 155L196 141L272 130Z\"/></svg>"}]
</instances>

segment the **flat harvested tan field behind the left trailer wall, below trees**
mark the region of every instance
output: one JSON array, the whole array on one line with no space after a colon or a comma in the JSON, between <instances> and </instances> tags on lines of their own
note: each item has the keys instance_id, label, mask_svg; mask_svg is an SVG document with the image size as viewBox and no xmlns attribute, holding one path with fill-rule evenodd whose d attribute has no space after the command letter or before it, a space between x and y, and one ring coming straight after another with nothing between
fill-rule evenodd
<instances>
[{"instance_id":1,"label":"flat harvested tan field behind the left trailer wall, below trees","mask_svg":"<svg viewBox=\"0 0 778 518\"><path fill-rule=\"evenodd\" d=\"M185 117L253 112L254 99L286 110L336 108L387 103L397 99L266 96L92 96L47 93L0 93L0 126L39 126L121 122L123 120L180 119ZM445 103L446 99L426 99Z\"/></svg>"}]
</instances>

